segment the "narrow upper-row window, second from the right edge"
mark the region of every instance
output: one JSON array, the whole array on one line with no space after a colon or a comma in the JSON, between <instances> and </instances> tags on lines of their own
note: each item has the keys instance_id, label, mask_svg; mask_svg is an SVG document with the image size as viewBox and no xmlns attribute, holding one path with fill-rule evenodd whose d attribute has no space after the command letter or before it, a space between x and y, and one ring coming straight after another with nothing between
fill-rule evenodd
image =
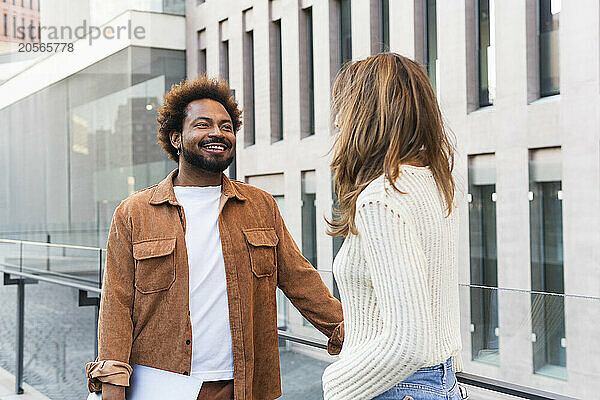
<instances>
[{"instance_id":1,"label":"narrow upper-row window, second from the right edge","mask_svg":"<svg viewBox=\"0 0 600 400\"><path fill-rule=\"evenodd\" d=\"M494 104L496 98L495 1L478 0L479 106Z\"/></svg>"}]
</instances>

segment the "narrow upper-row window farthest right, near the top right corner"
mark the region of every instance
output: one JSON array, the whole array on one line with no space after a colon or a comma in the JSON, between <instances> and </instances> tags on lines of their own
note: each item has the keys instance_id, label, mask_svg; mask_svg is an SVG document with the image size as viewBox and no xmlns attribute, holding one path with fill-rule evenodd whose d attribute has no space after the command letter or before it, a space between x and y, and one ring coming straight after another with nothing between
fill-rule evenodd
<instances>
[{"instance_id":1,"label":"narrow upper-row window farthest right, near the top right corner","mask_svg":"<svg viewBox=\"0 0 600 400\"><path fill-rule=\"evenodd\" d=\"M539 0L540 96L560 93L559 18L561 0Z\"/></svg>"}]
</instances>

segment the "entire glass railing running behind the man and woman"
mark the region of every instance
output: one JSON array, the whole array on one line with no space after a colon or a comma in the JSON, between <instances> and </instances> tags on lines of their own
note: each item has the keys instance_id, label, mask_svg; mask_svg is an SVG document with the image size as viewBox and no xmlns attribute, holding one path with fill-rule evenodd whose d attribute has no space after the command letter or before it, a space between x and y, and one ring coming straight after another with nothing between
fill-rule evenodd
<instances>
[{"instance_id":1,"label":"entire glass railing running behind the man and woman","mask_svg":"<svg viewBox=\"0 0 600 400\"><path fill-rule=\"evenodd\" d=\"M0 368L19 388L25 381L50 399L85 398L104 258L100 248L0 239ZM331 271L319 273L331 289ZM599 297L468 284L459 294L458 377L471 399L596 397ZM321 376L336 357L325 336L277 296L282 398L322 399Z\"/></svg>"}]
</instances>

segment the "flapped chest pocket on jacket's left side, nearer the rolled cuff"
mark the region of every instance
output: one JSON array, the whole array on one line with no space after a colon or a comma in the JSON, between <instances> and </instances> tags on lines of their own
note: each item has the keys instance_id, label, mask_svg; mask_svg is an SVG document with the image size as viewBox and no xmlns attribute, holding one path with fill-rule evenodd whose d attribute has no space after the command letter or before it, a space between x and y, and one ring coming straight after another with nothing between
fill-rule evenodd
<instances>
[{"instance_id":1,"label":"flapped chest pocket on jacket's left side, nearer the rolled cuff","mask_svg":"<svg viewBox=\"0 0 600 400\"><path fill-rule=\"evenodd\" d=\"M175 238L133 244L135 288L149 294L168 290L175 282Z\"/></svg>"}]
</instances>

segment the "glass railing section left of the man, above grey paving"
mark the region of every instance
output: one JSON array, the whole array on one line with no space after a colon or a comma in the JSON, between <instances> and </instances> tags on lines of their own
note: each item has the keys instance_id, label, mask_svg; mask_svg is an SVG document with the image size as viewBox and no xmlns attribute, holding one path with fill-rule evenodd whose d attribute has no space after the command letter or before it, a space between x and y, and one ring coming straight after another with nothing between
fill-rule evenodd
<instances>
[{"instance_id":1,"label":"glass railing section left of the man, above grey paving","mask_svg":"<svg viewBox=\"0 0 600 400\"><path fill-rule=\"evenodd\" d=\"M27 382L50 399L87 396L104 261L100 248L0 239L0 368L16 393Z\"/></svg>"}]
</instances>

